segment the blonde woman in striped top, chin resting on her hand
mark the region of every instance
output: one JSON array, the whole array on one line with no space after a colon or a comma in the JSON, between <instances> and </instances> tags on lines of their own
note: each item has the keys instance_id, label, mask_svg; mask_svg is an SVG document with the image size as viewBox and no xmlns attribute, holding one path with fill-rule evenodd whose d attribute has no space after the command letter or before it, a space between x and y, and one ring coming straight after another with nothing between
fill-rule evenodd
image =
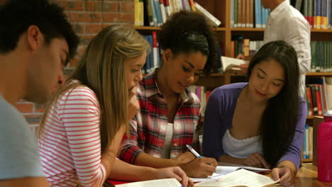
<instances>
[{"instance_id":1,"label":"blonde woman in striped top, chin resting on her hand","mask_svg":"<svg viewBox=\"0 0 332 187\"><path fill-rule=\"evenodd\" d=\"M187 186L188 178L178 167L153 169L116 159L123 133L139 108L135 91L148 46L135 30L121 26L104 28L89 43L38 129L43 171L52 186L102 186L108 177L175 177Z\"/></svg>"}]
</instances>

